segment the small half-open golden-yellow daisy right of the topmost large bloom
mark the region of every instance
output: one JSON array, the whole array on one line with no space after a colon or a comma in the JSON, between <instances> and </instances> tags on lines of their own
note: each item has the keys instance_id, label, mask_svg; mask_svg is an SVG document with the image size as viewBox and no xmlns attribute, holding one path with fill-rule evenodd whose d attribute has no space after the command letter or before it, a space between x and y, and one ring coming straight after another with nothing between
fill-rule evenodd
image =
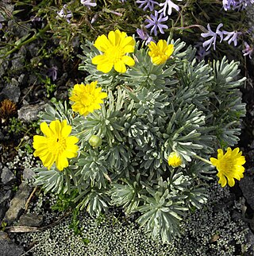
<instances>
[{"instance_id":1,"label":"small half-open golden-yellow daisy right of the topmost large bloom","mask_svg":"<svg viewBox=\"0 0 254 256\"><path fill-rule=\"evenodd\" d=\"M150 49L148 55L155 65L164 64L174 52L174 45L167 45L165 40L159 40L157 45L155 42L150 42L148 48Z\"/></svg>"}]
</instances>

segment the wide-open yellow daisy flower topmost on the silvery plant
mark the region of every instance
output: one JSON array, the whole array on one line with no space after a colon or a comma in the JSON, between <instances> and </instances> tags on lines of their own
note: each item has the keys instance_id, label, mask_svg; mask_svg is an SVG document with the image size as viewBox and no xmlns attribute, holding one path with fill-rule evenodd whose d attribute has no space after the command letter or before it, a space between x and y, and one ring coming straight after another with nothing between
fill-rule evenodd
<instances>
[{"instance_id":1,"label":"wide-open yellow daisy flower topmost on the silvery plant","mask_svg":"<svg viewBox=\"0 0 254 256\"><path fill-rule=\"evenodd\" d=\"M110 31L108 37L99 36L94 42L94 46L102 55L94 56L92 64L97 65L97 69L101 72L108 73L114 67L119 73L126 72L125 65L133 66L135 61L126 53L134 52L135 41L133 37L126 37L125 32L118 29Z\"/></svg>"}]
</instances>

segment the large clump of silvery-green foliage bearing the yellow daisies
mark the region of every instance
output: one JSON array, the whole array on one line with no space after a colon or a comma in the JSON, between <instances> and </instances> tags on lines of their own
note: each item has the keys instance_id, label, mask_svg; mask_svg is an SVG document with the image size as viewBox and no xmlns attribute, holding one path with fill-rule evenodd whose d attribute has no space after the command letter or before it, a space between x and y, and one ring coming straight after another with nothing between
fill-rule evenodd
<instances>
[{"instance_id":1,"label":"large clump of silvery-green foliage bearing the yellow daisies","mask_svg":"<svg viewBox=\"0 0 254 256\"><path fill-rule=\"evenodd\" d=\"M139 211L137 222L154 239L171 242L187 212L207 200L206 182L214 169L194 155L209 158L217 148L235 145L245 108L241 103L237 62L223 58L198 63L195 49L171 41L174 52L164 65L152 64L147 49L137 43L135 66L124 74L102 74L91 64L98 54L94 45L83 45L85 83L98 80L108 98L86 117L62 103L48 107L42 120L64 120L79 138L79 156L59 172L37 169L37 184L46 192L69 193L80 209L100 215L111 205L127 214ZM91 136L102 139L92 147ZM171 152L183 166L167 164Z\"/></svg>"}]
</instances>

